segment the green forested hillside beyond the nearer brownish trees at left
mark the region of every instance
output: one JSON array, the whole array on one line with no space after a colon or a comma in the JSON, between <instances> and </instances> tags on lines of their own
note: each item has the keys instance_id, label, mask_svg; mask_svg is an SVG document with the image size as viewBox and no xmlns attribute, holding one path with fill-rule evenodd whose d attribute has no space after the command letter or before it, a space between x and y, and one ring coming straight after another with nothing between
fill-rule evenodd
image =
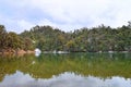
<instances>
[{"instance_id":1,"label":"green forested hillside beyond the nearer brownish trees at left","mask_svg":"<svg viewBox=\"0 0 131 87\"><path fill-rule=\"evenodd\" d=\"M51 26L35 26L20 35L29 38L43 51L131 51L131 23L111 28L100 25L64 33Z\"/></svg>"}]
</instances>

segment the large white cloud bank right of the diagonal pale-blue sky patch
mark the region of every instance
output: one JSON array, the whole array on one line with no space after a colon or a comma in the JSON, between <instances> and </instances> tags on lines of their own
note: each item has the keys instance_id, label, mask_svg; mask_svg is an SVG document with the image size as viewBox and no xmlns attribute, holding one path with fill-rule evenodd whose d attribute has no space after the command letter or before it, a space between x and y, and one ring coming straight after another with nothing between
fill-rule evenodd
<instances>
[{"instance_id":1,"label":"large white cloud bank right of the diagonal pale-blue sky patch","mask_svg":"<svg viewBox=\"0 0 131 87\"><path fill-rule=\"evenodd\" d=\"M127 24L131 18L130 3L130 0L33 1L33 5L41 9L55 21L73 26L80 23L81 26L90 27L99 24L118 27Z\"/></svg>"}]
</instances>

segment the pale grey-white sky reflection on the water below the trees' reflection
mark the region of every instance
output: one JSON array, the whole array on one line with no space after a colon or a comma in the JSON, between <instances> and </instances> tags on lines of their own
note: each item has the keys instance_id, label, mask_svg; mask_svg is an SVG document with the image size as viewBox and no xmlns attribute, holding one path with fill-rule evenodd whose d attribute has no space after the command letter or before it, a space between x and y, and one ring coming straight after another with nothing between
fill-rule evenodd
<instances>
[{"instance_id":1,"label":"pale grey-white sky reflection on the water below the trees' reflection","mask_svg":"<svg viewBox=\"0 0 131 87\"><path fill-rule=\"evenodd\" d=\"M74 73L63 73L49 79L35 79L28 74L16 72L14 75L7 75L0 87L131 87L131 79L119 76L102 79Z\"/></svg>"}]
</instances>

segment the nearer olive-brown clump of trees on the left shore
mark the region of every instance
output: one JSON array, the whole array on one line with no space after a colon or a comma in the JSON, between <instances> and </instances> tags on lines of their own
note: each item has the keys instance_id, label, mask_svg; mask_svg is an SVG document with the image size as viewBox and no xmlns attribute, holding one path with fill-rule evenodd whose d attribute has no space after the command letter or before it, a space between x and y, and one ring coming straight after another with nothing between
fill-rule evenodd
<instances>
[{"instance_id":1,"label":"nearer olive-brown clump of trees on the left shore","mask_svg":"<svg viewBox=\"0 0 131 87\"><path fill-rule=\"evenodd\" d=\"M9 51L15 52L16 50L32 50L33 44L29 38L22 38L13 32L7 32L4 25L0 25L0 52Z\"/></svg>"}]
</instances>

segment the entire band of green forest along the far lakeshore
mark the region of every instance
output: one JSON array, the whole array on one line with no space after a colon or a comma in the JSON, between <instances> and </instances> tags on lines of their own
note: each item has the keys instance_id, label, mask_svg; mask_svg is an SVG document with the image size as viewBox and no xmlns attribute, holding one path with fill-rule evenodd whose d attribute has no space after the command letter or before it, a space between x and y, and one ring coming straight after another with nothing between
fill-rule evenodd
<instances>
[{"instance_id":1,"label":"entire band of green forest along the far lakeshore","mask_svg":"<svg viewBox=\"0 0 131 87\"><path fill-rule=\"evenodd\" d=\"M131 22L117 28L102 24L73 32L36 25L21 34L7 32L4 25L0 25L0 51L35 48L69 52L131 51Z\"/></svg>"}]
</instances>

